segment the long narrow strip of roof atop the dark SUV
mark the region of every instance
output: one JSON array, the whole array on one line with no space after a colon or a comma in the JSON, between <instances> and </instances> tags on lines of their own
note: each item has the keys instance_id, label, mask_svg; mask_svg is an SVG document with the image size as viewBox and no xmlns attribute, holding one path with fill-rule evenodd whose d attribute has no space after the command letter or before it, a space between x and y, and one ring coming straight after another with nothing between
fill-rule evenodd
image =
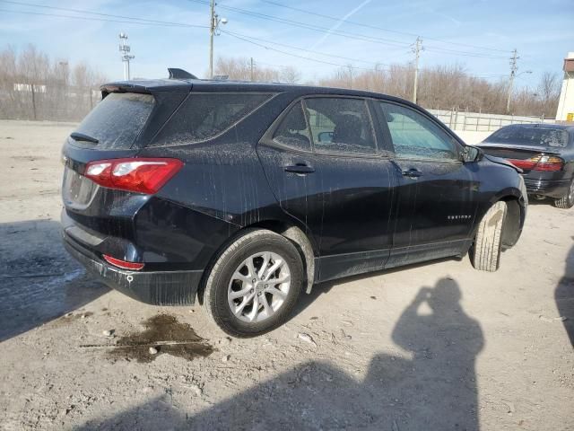
<instances>
[{"instance_id":1,"label":"long narrow strip of roof atop the dark SUV","mask_svg":"<svg viewBox=\"0 0 574 431\"><path fill-rule=\"evenodd\" d=\"M398 97L378 92L350 90L347 88L322 87L315 85L296 85L281 83L257 83L249 81L210 80L210 79L150 79L117 81L103 84L102 92L293 92L300 94L336 94L357 97L374 97L389 101L400 101L413 105Z\"/></svg>"}]
</instances>

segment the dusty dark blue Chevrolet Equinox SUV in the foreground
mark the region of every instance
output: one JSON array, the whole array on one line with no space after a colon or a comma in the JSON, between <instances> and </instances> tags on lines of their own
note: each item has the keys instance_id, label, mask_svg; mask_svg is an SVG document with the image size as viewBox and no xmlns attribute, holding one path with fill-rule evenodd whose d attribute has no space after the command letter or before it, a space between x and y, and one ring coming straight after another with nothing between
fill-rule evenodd
<instances>
[{"instance_id":1,"label":"dusty dark blue Chevrolet Equinox SUV in the foreground","mask_svg":"<svg viewBox=\"0 0 574 431\"><path fill-rule=\"evenodd\" d=\"M197 79L102 86L66 140L67 250L135 299L235 336L315 283L470 250L494 271L526 216L519 171L373 92Z\"/></svg>"}]
</instances>

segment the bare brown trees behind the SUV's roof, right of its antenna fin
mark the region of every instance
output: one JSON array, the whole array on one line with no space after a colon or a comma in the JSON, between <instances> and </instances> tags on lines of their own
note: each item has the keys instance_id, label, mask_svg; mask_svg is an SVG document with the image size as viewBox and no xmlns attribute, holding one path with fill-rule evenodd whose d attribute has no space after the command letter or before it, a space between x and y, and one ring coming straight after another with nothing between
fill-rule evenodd
<instances>
[{"instance_id":1,"label":"bare brown trees behind the SUV's roof, right of its antenna fin","mask_svg":"<svg viewBox=\"0 0 574 431\"><path fill-rule=\"evenodd\" d=\"M230 79L301 84L300 73L294 67L276 69L256 65L252 69L248 58L219 58L215 73L229 75ZM410 101L413 99L413 83L413 66L393 65L372 70L342 67L317 83L302 84L382 92ZM508 84L506 78L491 83L468 74L463 66L458 65L422 68L419 72L417 103L427 109L505 114ZM558 108L560 90L559 75L546 72L534 88L523 86L512 93L510 113L553 118Z\"/></svg>"}]
</instances>

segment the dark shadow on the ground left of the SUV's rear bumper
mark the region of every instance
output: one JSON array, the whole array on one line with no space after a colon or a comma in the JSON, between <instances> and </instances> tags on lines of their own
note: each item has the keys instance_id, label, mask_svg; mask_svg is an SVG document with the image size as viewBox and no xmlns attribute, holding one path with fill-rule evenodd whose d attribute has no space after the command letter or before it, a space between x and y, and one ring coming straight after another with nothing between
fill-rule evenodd
<instances>
[{"instance_id":1,"label":"dark shadow on the ground left of the SUV's rear bumper","mask_svg":"<svg viewBox=\"0 0 574 431\"><path fill-rule=\"evenodd\" d=\"M53 220L0 224L0 256L0 342L109 291L67 255Z\"/></svg>"}]
</instances>

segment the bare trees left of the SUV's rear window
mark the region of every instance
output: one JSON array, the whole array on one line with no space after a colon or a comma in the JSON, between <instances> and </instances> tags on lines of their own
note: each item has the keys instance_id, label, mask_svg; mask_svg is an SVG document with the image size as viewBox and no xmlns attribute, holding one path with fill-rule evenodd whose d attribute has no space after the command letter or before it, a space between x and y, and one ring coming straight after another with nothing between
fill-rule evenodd
<instances>
[{"instance_id":1,"label":"bare trees left of the SUV's rear window","mask_svg":"<svg viewBox=\"0 0 574 431\"><path fill-rule=\"evenodd\" d=\"M100 100L106 82L91 66L50 59L30 45L0 51L0 119L78 121Z\"/></svg>"}]
</instances>

